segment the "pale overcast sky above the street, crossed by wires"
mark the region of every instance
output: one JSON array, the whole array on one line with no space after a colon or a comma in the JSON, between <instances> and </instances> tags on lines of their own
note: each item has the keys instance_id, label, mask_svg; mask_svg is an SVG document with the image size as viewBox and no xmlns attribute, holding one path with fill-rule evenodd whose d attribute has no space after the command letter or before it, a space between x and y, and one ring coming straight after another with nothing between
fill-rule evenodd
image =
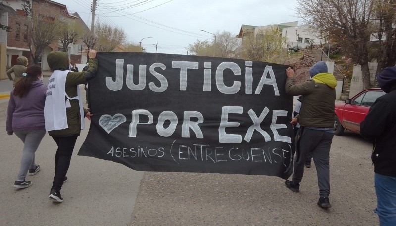
<instances>
[{"instance_id":1,"label":"pale overcast sky above the street, crossed by wires","mask_svg":"<svg viewBox=\"0 0 396 226\"><path fill-rule=\"evenodd\" d=\"M53 0L78 12L91 27L92 0ZM187 54L188 44L213 40L210 33L238 34L241 25L297 21L296 0L97 0L95 22L119 26L129 42L147 52ZM156 43L157 50L156 50Z\"/></svg>"}]
</instances>

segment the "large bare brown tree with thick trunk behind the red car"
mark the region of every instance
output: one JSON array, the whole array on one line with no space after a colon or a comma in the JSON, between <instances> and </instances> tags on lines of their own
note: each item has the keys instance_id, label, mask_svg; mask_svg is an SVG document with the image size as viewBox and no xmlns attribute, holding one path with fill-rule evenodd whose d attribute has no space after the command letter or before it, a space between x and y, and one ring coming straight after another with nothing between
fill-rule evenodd
<instances>
[{"instance_id":1,"label":"large bare brown tree with thick trunk behind the red car","mask_svg":"<svg viewBox=\"0 0 396 226\"><path fill-rule=\"evenodd\" d=\"M317 31L341 45L361 66L363 89L372 86L368 44L373 34L374 0L297 0L297 14Z\"/></svg>"}]
</instances>

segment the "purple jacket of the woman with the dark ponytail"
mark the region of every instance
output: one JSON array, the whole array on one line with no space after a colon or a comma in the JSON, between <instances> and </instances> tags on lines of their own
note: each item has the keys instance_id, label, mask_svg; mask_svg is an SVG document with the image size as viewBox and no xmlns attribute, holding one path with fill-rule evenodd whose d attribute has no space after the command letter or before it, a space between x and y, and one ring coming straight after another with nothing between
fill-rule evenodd
<instances>
[{"instance_id":1,"label":"purple jacket of the woman with the dark ponytail","mask_svg":"<svg viewBox=\"0 0 396 226\"><path fill-rule=\"evenodd\" d=\"M29 93L23 98L14 95L14 90L8 102L7 133L14 131L45 129L44 103L47 87L42 81L35 81Z\"/></svg>"}]
</instances>

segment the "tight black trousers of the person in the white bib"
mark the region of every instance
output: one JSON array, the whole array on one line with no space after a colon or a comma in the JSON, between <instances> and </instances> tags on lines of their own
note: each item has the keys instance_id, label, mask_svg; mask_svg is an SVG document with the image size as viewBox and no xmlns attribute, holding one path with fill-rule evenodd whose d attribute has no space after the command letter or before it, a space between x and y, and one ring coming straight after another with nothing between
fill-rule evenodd
<instances>
[{"instance_id":1,"label":"tight black trousers of the person in the white bib","mask_svg":"<svg viewBox=\"0 0 396 226\"><path fill-rule=\"evenodd\" d=\"M53 178L52 189L60 191L70 166L70 159L77 141L77 135L67 137L53 136L52 138L58 146L55 154L55 177Z\"/></svg>"}]
</instances>

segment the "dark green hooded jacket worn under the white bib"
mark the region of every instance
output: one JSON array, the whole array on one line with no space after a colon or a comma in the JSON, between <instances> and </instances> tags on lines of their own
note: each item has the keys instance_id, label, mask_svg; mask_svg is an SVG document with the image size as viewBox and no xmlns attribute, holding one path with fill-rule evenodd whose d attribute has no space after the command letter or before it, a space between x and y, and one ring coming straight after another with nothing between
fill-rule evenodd
<instances>
[{"instance_id":1,"label":"dark green hooded jacket worn under the white bib","mask_svg":"<svg viewBox=\"0 0 396 226\"><path fill-rule=\"evenodd\" d=\"M52 71L54 70L67 70L69 68L69 58L65 52L50 52L48 54L47 62ZM77 96L77 89L80 89L80 84L87 82L86 75L88 73L96 73L98 68L97 59L88 60L88 70L82 72L69 72L66 77L65 91L70 97ZM67 125L68 128L63 130L49 131L50 136L74 136L80 135L81 119L80 119L80 106L78 100L70 100L70 108L66 108ZM84 109L84 115L87 114Z\"/></svg>"}]
</instances>

